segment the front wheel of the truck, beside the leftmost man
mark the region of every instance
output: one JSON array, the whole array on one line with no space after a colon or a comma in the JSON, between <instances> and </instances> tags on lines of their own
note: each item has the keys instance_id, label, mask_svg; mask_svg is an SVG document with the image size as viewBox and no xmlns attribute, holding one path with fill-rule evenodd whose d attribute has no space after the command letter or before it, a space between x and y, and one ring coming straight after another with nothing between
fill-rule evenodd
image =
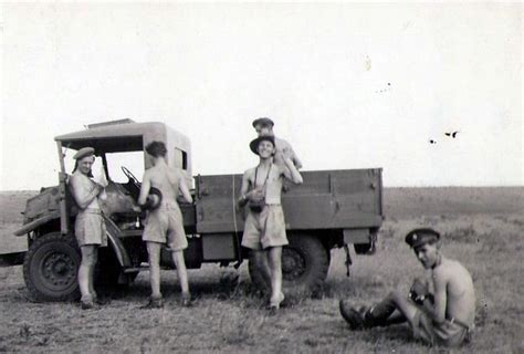
<instances>
[{"instance_id":1,"label":"front wheel of the truck, beside the leftmost man","mask_svg":"<svg viewBox=\"0 0 524 354\"><path fill-rule=\"evenodd\" d=\"M76 280L81 253L72 236L59 232L33 241L23 262L23 279L35 300L64 301L80 296Z\"/></svg>"}]
</instances>

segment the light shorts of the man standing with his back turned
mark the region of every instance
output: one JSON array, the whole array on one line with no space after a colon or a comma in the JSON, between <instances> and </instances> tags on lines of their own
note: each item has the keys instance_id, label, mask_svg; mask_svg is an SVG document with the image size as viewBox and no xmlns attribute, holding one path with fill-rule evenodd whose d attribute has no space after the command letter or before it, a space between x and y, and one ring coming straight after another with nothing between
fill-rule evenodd
<instances>
[{"instance_id":1,"label":"light shorts of the man standing with his back turned","mask_svg":"<svg viewBox=\"0 0 524 354\"><path fill-rule=\"evenodd\" d=\"M149 242L167 243L171 251L186 249L188 240L178 205L163 204L158 209L149 211L142 239Z\"/></svg>"}]
</instances>

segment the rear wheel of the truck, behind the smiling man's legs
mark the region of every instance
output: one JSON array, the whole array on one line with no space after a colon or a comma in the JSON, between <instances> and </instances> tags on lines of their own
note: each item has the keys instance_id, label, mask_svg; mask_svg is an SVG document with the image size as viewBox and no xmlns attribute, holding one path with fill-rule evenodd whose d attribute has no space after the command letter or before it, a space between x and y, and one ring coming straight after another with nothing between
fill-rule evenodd
<instances>
[{"instance_id":1,"label":"rear wheel of the truck, behind the smiling man's legs","mask_svg":"<svg viewBox=\"0 0 524 354\"><path fill-rule=\"evenodd\" d=\"M290 235L290 244L282 250L283 289L286 295L308 296L323 285L329 269L329 253L317 237ZM271 284L262 275L250 256L249 272L252 282L269 292Z\"/></svg>"}]
</instances>

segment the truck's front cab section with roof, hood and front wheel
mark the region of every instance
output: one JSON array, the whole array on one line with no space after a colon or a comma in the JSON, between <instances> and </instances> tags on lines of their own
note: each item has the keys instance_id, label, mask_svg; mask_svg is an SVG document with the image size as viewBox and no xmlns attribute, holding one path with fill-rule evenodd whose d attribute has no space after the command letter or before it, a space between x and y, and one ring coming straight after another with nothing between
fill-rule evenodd
<instances>
[{"instance_id":1,"label":"truck's front cab section with roof, hood and front wheel","mask_svg":"<svg viewBox=\"0 0 524 354\"><path fill-rule=\"evenodd\" d=\"M136 211L140 188L138 178L142 178L144 169L151 167L145 146L154 140L166 144L168 165L182 170L191 186L190 140L164 123L113 121L87 125L83 131L55 137L59 185L42 188L38 196L27 201L23 227L14 232L15 236L28 237L24 278L34 298L63 300L77 296L80 253L73 230L77 208L67 180L72 171L72 156L87 146L95 149L108 180L105 188L107 197L101 200L101 208L109 246L99 251L97 280L101 283L126 283L136 277L140 263L147 261L147 252L140 242L144 214ZM125 162L132 166L126 166ZM181 208L186 211L188 231L192 232L193 208L187 204ZM169 257L165 258L169 263Z\"/></svg>"}]
</instances>

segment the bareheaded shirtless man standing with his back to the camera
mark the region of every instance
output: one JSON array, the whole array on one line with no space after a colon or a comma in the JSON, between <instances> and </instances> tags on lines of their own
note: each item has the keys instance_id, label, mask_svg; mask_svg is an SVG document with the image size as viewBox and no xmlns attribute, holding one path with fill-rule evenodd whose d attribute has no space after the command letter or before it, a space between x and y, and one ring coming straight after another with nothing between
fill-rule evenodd
<instances>
[{"instance_id":1,"label":"bareheaded shirtless man standing with his back to the camera","mask_svg":"<svg viewBox=\"0 0 524 354\"><path fill-rule=\"evenodd\" d=\"M146 146L146 152L153 158L153 167L144 174L138 205L145 209L151 207L154 199L154 196L150 195L151 188L160 191L161 200L158 207L148 211L143 235L143 240L147 243L151 282L151 298L144 308L158 309L164 306L160 293L160 248L163 243L167 243L171 251L172 261L177 267L178 279L182 289L182 305L189 306L191 298L184 260L184 250L188 247L188 241L177 197L181 192L187 202L192 202L191 194L182 173L167 165L167 149L164 143L153 142Z\"/></svg>"}]
</instances>

